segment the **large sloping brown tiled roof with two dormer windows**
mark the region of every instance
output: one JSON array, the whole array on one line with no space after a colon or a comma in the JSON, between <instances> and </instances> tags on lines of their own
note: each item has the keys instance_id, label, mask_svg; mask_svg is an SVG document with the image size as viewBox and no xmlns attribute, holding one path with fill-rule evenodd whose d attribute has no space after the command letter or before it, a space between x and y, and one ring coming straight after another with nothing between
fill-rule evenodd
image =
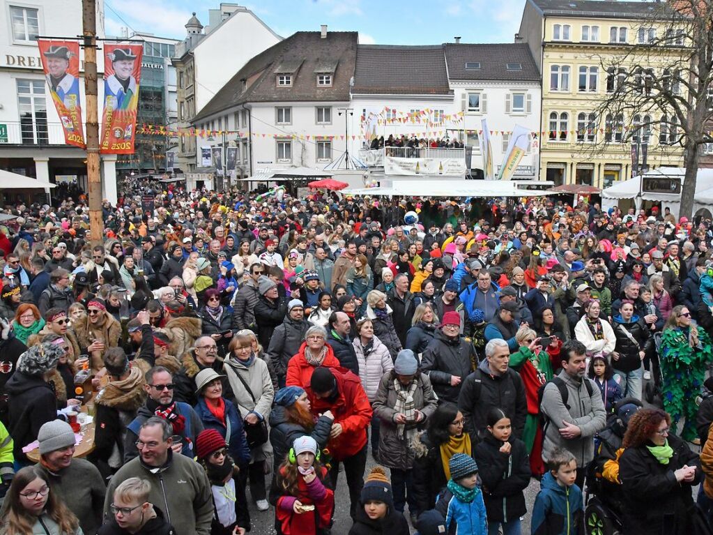
<instances>
[{"instance_id":1,"label":"large sloping brown tiled roof with two dormer windows","mask_svg":"<svg viewBox=\"0 0 713 535\"><path fill-rule=\"evenodd\" d=\"M298 31L248 61L193 119L248 102L349 101L356 63L356 31ZM317 86L317 72L334 66L332 86ZM277 87L276 73L292 73L292 86ZM247 89L242 91L242 80Z\"/></svg>"}]
</instances>

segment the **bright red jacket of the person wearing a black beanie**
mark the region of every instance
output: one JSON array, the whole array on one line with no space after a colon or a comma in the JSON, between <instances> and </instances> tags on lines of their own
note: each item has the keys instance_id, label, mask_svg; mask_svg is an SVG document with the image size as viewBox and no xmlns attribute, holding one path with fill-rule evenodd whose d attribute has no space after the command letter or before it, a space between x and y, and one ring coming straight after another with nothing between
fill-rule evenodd
<instances>
[{"instance_id":1,"label":"bright red jacket of the person wearing a black beanie","mask_svg":"<svg viewBox=\"0 0 713 535\"><path fill-rule=\"evenodd\" d=\"M312 414L321 414L331 410L334 423L342 425L342 434L336 439L329 439L327 449L336 461L342 461L356 454L366 446L366 427L371 422L371 404L366 397L361 379L346 368L332 369L337 379L337 399L317 399L311 390L307 390Z\"/></svg>"}]
</instances>

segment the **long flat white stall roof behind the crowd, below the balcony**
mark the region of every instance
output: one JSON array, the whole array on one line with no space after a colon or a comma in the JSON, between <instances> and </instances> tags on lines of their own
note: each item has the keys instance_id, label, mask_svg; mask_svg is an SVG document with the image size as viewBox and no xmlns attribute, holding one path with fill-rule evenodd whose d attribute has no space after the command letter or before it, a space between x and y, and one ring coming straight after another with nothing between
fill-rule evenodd
<instances>
[{"instance_id":1,"label":"long flat white stall roof behind the crowd, below the balcony","mask_svg":"<svg viewBox=\"0 0 713 535\"><path fill-rule=\"evenodd\" d=\"M410 197L532 197L509 180L399 180L379 188L350 188L344 195L403 195Z\"/></svg>"}]
</instances>

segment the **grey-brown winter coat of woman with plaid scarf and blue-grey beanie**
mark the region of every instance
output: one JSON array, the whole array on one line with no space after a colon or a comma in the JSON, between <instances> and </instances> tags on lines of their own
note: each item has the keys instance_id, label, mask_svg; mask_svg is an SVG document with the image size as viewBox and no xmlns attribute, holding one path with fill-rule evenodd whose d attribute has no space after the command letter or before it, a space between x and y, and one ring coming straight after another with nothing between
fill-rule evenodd
<instances>
[{"instance_id":1,"label":"grey-brown winter coat of woman with plaid scarf and blue-grey beanie","mask_svg":"<svg viewBox=\"0 0 713 535\"><path fill-rule=\"evenodd\" d=\"M396 374L391 371L384 374L379 382L379 389L374 397L374 414L381 420L379 427L379 459L385 467L409 470L414 464L414 449L407 442L407 434L399 437L399 427L394 423L394 406L396 405ZM424 414L424 419L418 424L406 424L406 429L423 428L431 414L438 407L438 398L431 387L431 379L426 374L417 372L414 380L418 383L414 392L414 409Z\"/></svg>"}]
</instances>

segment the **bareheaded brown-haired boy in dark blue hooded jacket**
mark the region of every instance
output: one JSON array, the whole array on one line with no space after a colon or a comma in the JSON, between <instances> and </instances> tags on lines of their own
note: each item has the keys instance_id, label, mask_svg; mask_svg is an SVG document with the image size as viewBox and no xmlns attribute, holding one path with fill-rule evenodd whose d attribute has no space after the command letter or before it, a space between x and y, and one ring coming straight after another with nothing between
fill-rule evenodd
<instances>
[{"instance_id":1,"label":"bareheaded brown-haired boy in dark blue hooded jacket","mask_svg":"<svg viewBox=\"0 0 713 535\"><path fill-rule=\"evenodd\" d=\"M532 535L584 535L584 504L582 490L575 484L575 456L566 449L555 448L548 469L535 498Z\"/></svg>"}]
</instances>

